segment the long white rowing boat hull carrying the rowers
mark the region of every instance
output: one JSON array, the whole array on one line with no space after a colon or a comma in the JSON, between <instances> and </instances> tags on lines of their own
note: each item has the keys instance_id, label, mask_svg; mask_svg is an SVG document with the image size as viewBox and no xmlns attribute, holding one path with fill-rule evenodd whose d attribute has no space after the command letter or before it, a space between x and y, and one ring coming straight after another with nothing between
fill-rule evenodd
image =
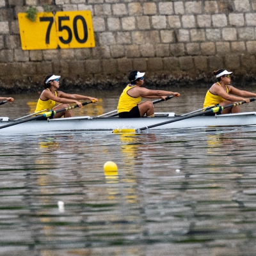
<instances>
[{"instance_id":1,"label":"long white rowing boat hull carrying the rowers","mask_svg":"<svg viewBox=\"0 0 256 256\"><path fill-rule=\"evenodd\" d=\"M174 113L156 113L154 118L118 118L76 116L50 120L31 120L21 124L7 117L0 118L0 135L5 134L47 134L70 131L113 131L114 129L139 129L148 125L172 121L170 124L153 127L152 129L180 129L197 127L223 127L256 125L256 112L245 112L218 116L194 116L175 122L179 116ZM1 129L1 125L9 125ZM13 125L12 125L13 124ZM15 124L15 125L14 125Z\"/></svg>"}]
</instances>

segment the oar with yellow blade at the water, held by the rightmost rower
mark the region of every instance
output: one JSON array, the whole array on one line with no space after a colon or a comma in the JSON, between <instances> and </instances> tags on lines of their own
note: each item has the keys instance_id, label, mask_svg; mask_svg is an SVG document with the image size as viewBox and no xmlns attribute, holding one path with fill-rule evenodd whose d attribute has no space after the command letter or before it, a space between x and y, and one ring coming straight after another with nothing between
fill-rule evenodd
<instances>
[{"instance_id":1,"label":"oar with yellow blade at the water, held by the rightmost rower","mask_svg":"<svg viewBox=\"0 0 256 256\"><path fill-rule=\"evenodd\" d=\"M255 99L250 99L250 102L252 102L254 100ZM160 125L164 125L164 124L170 124L170 123L173 123L173 122L181 121L181 120L188 119L188 118L195 117L195 116L205 115L205 114L208 114L208 113L217 113L218 111L223 111L223 109L232 108L232 107L244 104L244 103L246 103L246 101L242 100L240 102L234 102L232 104L228 104L227 106L216 106L216 107L211 108L209 110L203 111L202 113L195 113L195 114L188 115L188 116L180 116L178 118L175 118L175 119L172 119L172 120L169 120L169 121L165 121L165 122L161 122L161 123L153 124L153 125L148 125L148 126L145 126L145 127L141 127L139 129L115 129L115 130L113 130L113 133L139 132L139 131L147 130L147 129L157 127L157 126L160 126Z\"/></svg>"}]
</instances>

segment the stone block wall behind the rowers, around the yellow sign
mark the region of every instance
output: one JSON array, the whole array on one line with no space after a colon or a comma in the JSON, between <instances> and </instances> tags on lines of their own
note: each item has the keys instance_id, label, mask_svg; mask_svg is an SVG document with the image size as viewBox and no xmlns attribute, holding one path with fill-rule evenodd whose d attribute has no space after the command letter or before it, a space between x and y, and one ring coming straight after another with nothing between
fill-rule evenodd
<instances>
[{"instance_id":1,"label":"stone block wall behind the rowers, around the yellow sign","mask_svg":"<svg viewBox=\"0 0 256 256\"><path fill-rule=\"evenodd\" d=\"M22 51L17 14L90 10L94 48ZM147 84L198 84L227 68L254 81L256 0L0 0L0 90L37 90L46 74L63 86L115 88L133 69Z\"/></svg>"}]
</instances>

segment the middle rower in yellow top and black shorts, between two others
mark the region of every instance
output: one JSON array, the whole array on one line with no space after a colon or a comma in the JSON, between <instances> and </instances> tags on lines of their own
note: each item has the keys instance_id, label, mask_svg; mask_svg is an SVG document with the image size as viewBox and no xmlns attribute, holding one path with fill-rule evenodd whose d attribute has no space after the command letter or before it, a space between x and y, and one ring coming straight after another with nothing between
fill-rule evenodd
<instances>
[{"instance_id":1,"label":"middle rower in yellow top and black shorts, between two others","mask_svg":"<svg viewBox=\"0 0 256 256\"><path fill-rule=\"evenodd\" d=\"M145 72L133 70L129 74L130 83L124 88L120 95L117 113L120 118L135 118L147 115L147 117L154 117L154 106L152 101L141 101L141 97L147 99L163 99L168 95L179 97L180 93L163 90L149 90L141 87L144 84Z\"/></svg>"}]
</instances>

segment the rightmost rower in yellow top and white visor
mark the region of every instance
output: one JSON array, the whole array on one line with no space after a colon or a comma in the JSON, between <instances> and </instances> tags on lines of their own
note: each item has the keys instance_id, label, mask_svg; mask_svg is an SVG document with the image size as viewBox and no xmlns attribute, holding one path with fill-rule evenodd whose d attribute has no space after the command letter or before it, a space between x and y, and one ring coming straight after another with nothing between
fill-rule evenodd
<instances>
[{"instance_id":1,"label":"rightmost rower in yellow top and white visor","mask_svg":"<svg viewBox=\"0 0 256 256\"><path fill-rule=\"evenodd\" d=\"M213 74L214 76L216 76L218 82L212 84L211 88L207 91L205 95L205 100L204 100L204 108L216 106L216 105L227 106L228 104L232 104L234 102L241 101L241 100L244 100L246 101L246 103L249 103L250 99L248 99L248 97L256 96L256 93L239 90L234 86L231 86L230 74L232 74L232 72L228 72L225 69L219 69L214 71ZM221 113L218 112L217 114L220 115L220 114L240 113L240 112L241 112L241 107L234 106L232 108L223 109ZM215 115L215 113L209 113L208 115Z\"/></svg>"}]
</instances>

